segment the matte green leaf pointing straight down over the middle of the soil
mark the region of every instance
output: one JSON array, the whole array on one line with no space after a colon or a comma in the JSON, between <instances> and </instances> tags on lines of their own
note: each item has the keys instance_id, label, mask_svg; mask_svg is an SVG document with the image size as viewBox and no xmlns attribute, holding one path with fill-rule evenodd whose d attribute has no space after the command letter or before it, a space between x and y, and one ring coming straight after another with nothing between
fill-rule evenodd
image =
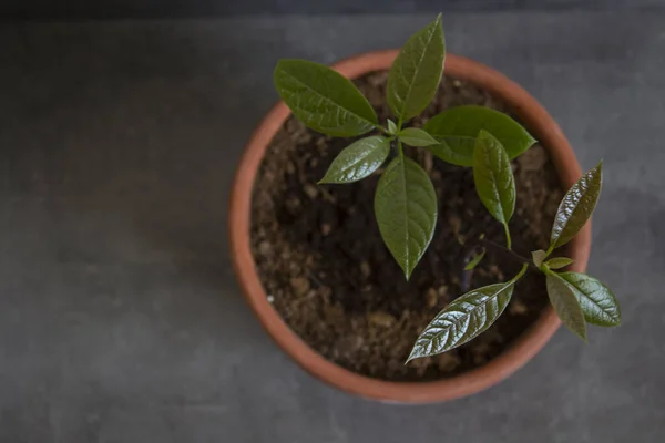
<instances>
[{"instance_id":1,"label":"matte green leaf pointing straight down over the middle of the soil","mask_svg":"<svg viewBox=\"0 0 665 443\"><path fill-rule=\"evenodd\" d=\"M396 157L377 184L375 214L381 237L408 280L437 224L437 194L427 173L412 159Z\"/></svg>"}]
</instances>

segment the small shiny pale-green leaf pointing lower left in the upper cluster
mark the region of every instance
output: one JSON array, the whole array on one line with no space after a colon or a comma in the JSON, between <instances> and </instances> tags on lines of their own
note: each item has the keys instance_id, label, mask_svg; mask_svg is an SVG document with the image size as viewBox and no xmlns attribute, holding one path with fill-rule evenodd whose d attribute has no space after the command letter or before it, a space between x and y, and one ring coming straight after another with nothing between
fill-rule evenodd
<instances>
[{"instance_id":1,"label":"small shiny pale-green leaf pointing lower left in the upper cluster","mask_svg":"<svg viewBox=\"0 0 665 443\"><path fill-rule=\"evenodd\" d=\"M360 138L339 153L319 184L358 182L381 167L389 153L388 138L379 135Z\"/></svg>"}]
</instances>

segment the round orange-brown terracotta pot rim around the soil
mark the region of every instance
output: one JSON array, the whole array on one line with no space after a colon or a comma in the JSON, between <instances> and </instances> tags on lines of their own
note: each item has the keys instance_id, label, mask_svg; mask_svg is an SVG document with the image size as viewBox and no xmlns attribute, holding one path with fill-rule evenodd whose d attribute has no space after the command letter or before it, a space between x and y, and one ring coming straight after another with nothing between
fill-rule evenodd
<instances>
[{"instance_id":1,"label":"round orange-brown terracotta pot rim around the soil","mask_svg":"<svg viewBox=\"0 0 665 443\"><path fill-rule=\"evenodd\" d=\"M355 79L371 71L387 70L397 53L396 50L371 52L341 61L332 68L342 75ZM448 54L444 72L446 75L467 80L509 104L531 134L548 150L566 188L580 178L580 165L559 125L526 91L499 72L461 56ZM268 302L256 272L249 244L254 181L268 144L289 113L283 102L278 103L258 125L245 147L233 183L228 217L231 256L243 292L263 327L286 353L314 377L349 393L390 402L426 403L451 400L489 388L512 374L543 348L560 326L551 307L501 356L481 368L440 381L420 383L371 379L348 371L309 348ZM436 240L434 238L433 241ZM591 224L587 224L571 243L571 258L575 260L572 270L585 270L590 248Z\"/></svg>"}]
</instances>

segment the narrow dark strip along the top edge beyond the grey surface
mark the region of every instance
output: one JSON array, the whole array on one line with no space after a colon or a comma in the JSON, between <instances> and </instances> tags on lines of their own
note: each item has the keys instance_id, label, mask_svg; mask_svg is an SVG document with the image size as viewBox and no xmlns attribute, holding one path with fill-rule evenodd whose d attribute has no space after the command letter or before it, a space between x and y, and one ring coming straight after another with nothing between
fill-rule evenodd
<instances>
[{"instance_id":1,"label":"narrow dark strip along the top edge beyond the grey surface","mask_svg":"<svg viewBox=\"0 0 665 443\"><path fill-rule=\"evenodd\" d=\"M0 19L85 20L459 11L663 10L665 0L3 0Z\"/></svg>"}]
</instances>

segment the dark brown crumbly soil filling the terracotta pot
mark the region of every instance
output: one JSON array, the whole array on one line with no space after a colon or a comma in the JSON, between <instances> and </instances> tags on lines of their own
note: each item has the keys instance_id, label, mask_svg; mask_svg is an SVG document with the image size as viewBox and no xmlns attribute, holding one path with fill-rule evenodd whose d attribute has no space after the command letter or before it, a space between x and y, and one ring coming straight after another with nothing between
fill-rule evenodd
<instances>
[{"instance_id":1,"label":"dark brown crumbly soil filling the terracotta pot","mask_svg":"<svg viewBox=\"0 0 665 443\"><path fill-rule=\"evenodd\" d=\"M383 99L386 73L367 75L356 84L381 122L391 117ZM444 79L423 116L462 104L508 111L484 91ZM420 126L423 121L412 123ZM316 184L349 142L309 131L291 117L267 150L254 188L252 247L275 309L327 359L379 379L450 377L500 354L546 306L542 277L528 274L503 316L475 340L405 365L416 338L437 312L469 286L504 281L519 266L488 253L469 281L462 268L470 253L461 243L481 233L503 243L502 227L478 198L471 168L446 164L423 150L409 150L432 178L439 219L428 251L410 281L405 281L375 220L378 175L350 185ZM562 192L541 146L514 161L513 169L518 185L510 224L513 248L529 256L548 246Z\"/></svg>"}]
</instances>

